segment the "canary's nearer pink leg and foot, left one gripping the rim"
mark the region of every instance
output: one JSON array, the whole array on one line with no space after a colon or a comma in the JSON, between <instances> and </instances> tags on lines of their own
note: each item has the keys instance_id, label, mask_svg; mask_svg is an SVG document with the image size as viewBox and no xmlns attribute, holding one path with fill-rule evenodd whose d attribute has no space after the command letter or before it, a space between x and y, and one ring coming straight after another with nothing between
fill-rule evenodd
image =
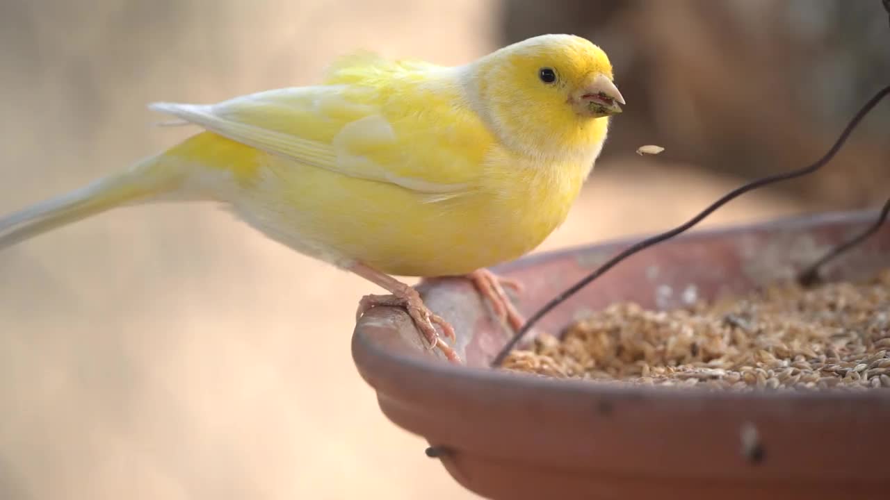
<instances>
[{"instance_id":1,"label":"canary's nearer pink leg and foot, left one gripping the rim","mask_svg":"<svg viewBox=\"0 0 890 500\"><path fill-rule=\"evenodd\" d=\"M424 335L426 341L430 344L430 349L439 348L439 351L445 355L450 361L459 363L460 357L457 352L452 349L449 344L445 343L439 337L434 325L439 325L442 334L451 340L455 340L454 327L451 327L448 321L426 307L424 301L420 298L413 287L408 286L396 278L392 278L378 270L373 270L364 264L354 264L350 270L362 278L383 286L392 295L365 295L359 302L359 310L356 312L356 319L361 318L367 310L378 305L389 305L394 307L404 307L408 311L417 329Z\"/></svg>"}]
</instances>

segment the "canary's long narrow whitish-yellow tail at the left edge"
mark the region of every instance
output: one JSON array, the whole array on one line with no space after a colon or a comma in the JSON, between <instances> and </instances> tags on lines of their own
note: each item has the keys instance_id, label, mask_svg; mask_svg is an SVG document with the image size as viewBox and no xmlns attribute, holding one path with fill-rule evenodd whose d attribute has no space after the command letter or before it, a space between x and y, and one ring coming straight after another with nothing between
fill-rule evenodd
<instances>
[{"instance_id":1,"label":"canary's long narrow whitish-yellow tail at the left edge","mask_svg":"<svg viewBox=\"0 0 890 500\"><path fill-rule=\"evenodd\" d=\"M0 217L0 250L111 208L150 201L175 190L182 173L164 165L161 158L149 157L124 172Z\"/></svg>"}]
</instances>

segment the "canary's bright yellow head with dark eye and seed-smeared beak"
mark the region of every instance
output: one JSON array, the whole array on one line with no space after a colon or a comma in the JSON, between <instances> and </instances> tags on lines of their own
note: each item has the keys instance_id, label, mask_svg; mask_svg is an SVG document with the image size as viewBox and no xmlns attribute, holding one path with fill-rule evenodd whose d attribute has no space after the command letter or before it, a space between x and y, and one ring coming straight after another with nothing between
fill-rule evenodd
<instances>
[{"instance_id":1,"label":"canary's bright yellow head with dark eye and seed-smeared beak","mask_svg":"<svg viewBox=\"0 0 890 500\"><path fill-rule=\"evenodd\" d=\"M477 108L485 109L501 135L520 141L599 144L609 117L625 103L606 53L580 36L535 36L471 68Z\"/></svg>"}]
</instances>

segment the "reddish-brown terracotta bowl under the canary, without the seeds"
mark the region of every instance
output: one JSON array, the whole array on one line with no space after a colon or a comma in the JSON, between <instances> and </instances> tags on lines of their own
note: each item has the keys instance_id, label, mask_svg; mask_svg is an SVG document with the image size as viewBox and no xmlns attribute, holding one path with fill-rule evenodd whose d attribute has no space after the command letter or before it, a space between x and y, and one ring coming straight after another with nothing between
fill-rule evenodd
<instances>
[{"instance_id":1,"label":"reddish-brown terracotta bowl under the canary, without the seeds","mask_svg":"<svg viewBox=\"0 0 890 500\"><path fill-rule=\"evenodd\" d=\"M610 302L667 309L742 293L792 276L875 217L822 214L676 238L619 263L538 328L557 333ZM530 314L635 241L541 254L498 271L522 280L519 306ZM830 264L826 277L866 278L888 265L890 224ZM426 350L394 308L360 319L353 358L384 414L441 447L449 473L482 496L890 498L890 391L706 393L508 374L488 362L510 334L468 283L421 288L457 329L466 366ZM426 459L422 452L414 459Z\"/></svg>"}]
</instances>

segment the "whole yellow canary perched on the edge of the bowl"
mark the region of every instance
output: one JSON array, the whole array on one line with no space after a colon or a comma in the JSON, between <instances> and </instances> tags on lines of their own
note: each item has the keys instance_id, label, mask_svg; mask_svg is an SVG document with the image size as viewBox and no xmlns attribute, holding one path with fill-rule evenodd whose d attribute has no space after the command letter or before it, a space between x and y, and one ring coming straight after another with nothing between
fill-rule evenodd
<instances>
[{"instance_id":1,"label":"whole yellow canary perched on the edge of the bowl","mask_svg":"<svg viewBox=\"0 0 890 500\"><path fill-rule=\"evenodd\" d=\"M430 343L457 354L398 276L466 276L522 324L486 267L538 246L565 219L624 99L605 52L536 36L457 67L344 57L321 85L151 109L203 130L171 149L0 219L0 248L151 201L212 200L267 237L392 295ZM508 285L515 285L507 283Z\"/></svg>"}]
</instances>

